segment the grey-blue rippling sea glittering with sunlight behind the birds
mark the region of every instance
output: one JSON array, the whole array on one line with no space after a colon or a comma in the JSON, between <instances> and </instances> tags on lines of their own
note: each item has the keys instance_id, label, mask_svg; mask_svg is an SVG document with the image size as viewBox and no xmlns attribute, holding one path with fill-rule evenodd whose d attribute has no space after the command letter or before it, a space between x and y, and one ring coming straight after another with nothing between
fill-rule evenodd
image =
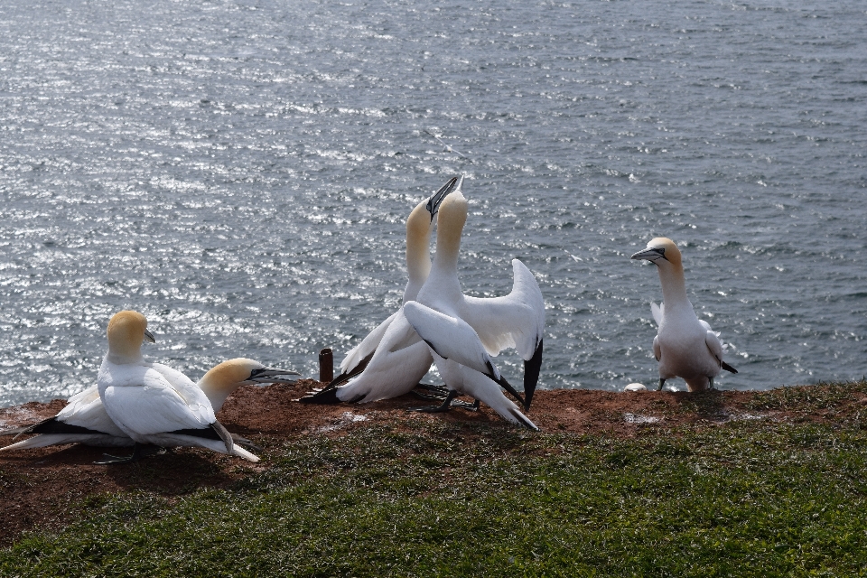
<instances>
[{"instance_id":1,"label":"grey-blue rippling sea glittering with sunlight behind the birds","mask_svg":"<svg viewBox=\"0 0 867 578\"><path fill-rule=\"evenodd\" d=\"M865 30L860 0L5 0L0 406L94 383L125 308L193 379L315 377L396 310L406 216L458 173L464 291L518 257L545 296L540 387L657 382L656 236L718 387L862 378Z\"/></svg>"}]
</instances>

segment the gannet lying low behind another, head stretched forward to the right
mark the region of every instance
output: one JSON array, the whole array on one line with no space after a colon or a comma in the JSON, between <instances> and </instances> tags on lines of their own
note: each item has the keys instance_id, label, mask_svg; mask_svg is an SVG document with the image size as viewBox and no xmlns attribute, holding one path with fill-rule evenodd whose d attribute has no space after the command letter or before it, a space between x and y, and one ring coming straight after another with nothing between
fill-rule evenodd
<instances>
[{"instance_id":1,"label":"gannet lying low behind another, head stretched forward to the right","mask_svg":"<svg viewBox=\"0 0 867 578\"><path fill-rule=\"evenodd\" d=\"M148 338L145 336L144 339ZM298 378L300 374L295 371L268 368L253 359L236 358L210 368L196 385L208 397L216 413L219 412L229 394L238 387L266 383L292 383ZM0 452L65 443L84 443L98 447L129 447L135 444L133 439L108 417L106 407L99 397L97 385L71 396L68 405L54 417L38 424L0 432L0 435L17 437L23 433L37 435L0 448ZM248 443L235 434L232 434L232 439L236 443Z\"/></svg>"}]
</instances>

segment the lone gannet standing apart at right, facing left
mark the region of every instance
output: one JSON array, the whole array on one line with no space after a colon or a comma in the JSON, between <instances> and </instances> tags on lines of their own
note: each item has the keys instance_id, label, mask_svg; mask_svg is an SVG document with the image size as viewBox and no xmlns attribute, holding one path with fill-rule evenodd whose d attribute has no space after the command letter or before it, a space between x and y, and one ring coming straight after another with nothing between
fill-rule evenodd
<instances>
[{"instance_id":1,"label":"lone gannet standing apart at right, facing left","mask_svg":"<svg viewBox=\"0 0 867 578\"><path fill-rule=\"evenodd\" d=\"M722 343L711 326L698 319L686 298L684 266L680 250L669 238L654 238L648 248L632 256L657 266L662 282L662 305L650 304L659 329L653 338L653 355L659 362L659 389L667 379L683 378L689 391L713 387L720 369L737 373L722 360Z\"/></svg>"}]
</instances>

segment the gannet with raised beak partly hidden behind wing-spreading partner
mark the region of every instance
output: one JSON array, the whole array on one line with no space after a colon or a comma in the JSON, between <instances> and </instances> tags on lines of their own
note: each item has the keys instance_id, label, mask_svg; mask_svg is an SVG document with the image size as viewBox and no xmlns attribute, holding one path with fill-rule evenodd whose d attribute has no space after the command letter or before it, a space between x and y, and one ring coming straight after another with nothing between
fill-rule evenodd
<instances>
[{"instance_id":1,"label":"gannet with raised beak partly hidden behind wing-spreading partner","mask_svg":"<svg viewBox=\"0 0 867 578\"><path fill-rule=\"evenodd\" d=\"M406 271L403 303L415 299L431 271L431 230L440 204L458 187L457 177L430 199L419 202L406 219ZM368 403L411 391L431 368L427 346L406 322L401 307L368 333L340 363L340 376L321 392L302 397L307 404ZM359 375L360 374L360 375ZM345 384L345 385L343 385Z\"/></svg>"}]
</instances>

